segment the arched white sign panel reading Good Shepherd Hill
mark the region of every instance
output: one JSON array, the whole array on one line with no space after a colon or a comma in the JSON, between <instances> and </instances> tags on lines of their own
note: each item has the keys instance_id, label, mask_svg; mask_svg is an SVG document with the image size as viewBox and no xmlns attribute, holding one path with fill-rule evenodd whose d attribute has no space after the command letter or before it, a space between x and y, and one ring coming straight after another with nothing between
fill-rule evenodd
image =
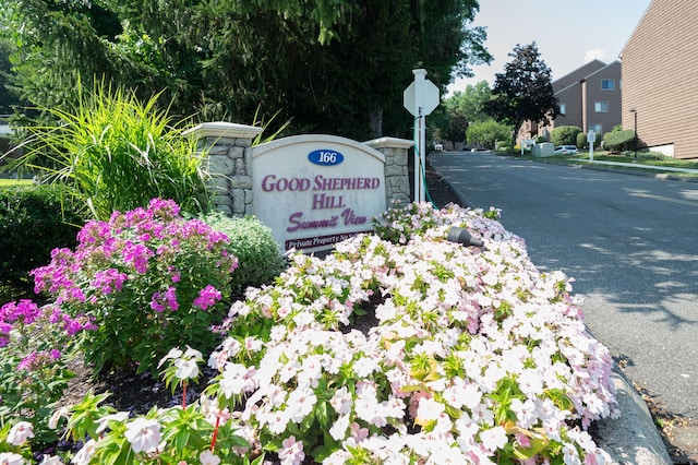
<instances>
[{"instance_id":1,"label":"arched white sign panel reading Good Shepherd Hill","mask_svg":"<svg viewBox=\"0 0 698 465\"><path fill-rule=\"evenodd\" d=\"M255 216L281 250L326 250L386 210L385 156L359 142L296 135L252 150Z\"/></svg>"}]
</instances>

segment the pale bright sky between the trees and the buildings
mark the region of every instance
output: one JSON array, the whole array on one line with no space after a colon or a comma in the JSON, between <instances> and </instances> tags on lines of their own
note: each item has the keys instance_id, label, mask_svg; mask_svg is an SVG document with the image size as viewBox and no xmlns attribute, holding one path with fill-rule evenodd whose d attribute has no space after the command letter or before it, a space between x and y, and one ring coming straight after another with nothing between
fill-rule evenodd
<instances>
[{"instance_id":1,"label":"pale bright sky between the trees and the buildings","mask_svg":"<svg viewBox=\"0 0 698 465\"><path fill-rule=\"evenodd\" d=\"M448 94L504 72L517 44L535 41L553 81L593 59L618 59L651 0L480 0L472 26L485 26L490 65L473 67L474 78L456 79ZM429 76L426 76L429 79Z\"/></svg>"}]
</instances>

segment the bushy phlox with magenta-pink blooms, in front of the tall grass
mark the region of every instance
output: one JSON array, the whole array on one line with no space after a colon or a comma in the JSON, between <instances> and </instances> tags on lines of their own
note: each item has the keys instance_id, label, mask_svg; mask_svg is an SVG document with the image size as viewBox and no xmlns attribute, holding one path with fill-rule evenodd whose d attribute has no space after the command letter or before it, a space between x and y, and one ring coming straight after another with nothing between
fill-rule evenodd
<instances>
[{"instance_id":1,"label":"bushy phlox with magenta-pink blooms, in front of the tall grass","mask_svg":"<svg viewBox=\"0 0 698 465\"><path fill-rule=\"evenodd\" d=\"M87 223L77 239L74 252L53 250L32 274L63 312L95 319L83 348L96 371L135 362L144 372L172 346L215 346L209 326L221 320L217 303L237 266L222 233L154 199L147 210Z\"/></svg>"}]
</instances>

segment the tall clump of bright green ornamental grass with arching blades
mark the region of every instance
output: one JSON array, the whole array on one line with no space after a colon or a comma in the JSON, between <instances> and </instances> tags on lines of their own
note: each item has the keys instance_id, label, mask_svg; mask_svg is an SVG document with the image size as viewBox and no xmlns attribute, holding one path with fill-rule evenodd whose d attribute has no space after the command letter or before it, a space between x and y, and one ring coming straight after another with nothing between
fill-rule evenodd
<instances>
[{"instance_id":1,"label":"tall clump of bright green ornamental grass with arching blades","mask_svg":"<svg viewBox=\"0 0 698 465\"><path fill-rule=\"evenodd\" d=\"M71 184L95 217L172 199L184 211L209 207L206 175L196 142L171 127L157 96L143 103L134 93L98 85L71 111L45 108L59 124L28 127L21 165ZM48 158L48 162L47 162ZM34 160L37 164L34 165Z\"/></svg>"}]
</instances>

